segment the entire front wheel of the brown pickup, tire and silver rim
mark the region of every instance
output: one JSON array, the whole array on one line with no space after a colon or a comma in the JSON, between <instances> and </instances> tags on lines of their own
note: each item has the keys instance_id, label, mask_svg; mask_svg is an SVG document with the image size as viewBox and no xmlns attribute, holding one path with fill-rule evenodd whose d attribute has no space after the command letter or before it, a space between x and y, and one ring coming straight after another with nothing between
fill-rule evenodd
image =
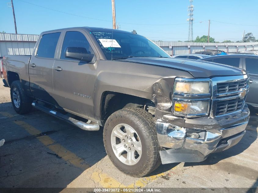
<instances>
[{"instance_id":1,"label":"entire front wheel of the brown pickup, tire and silver rim","mask_svg":"<svg viewBox=\"0 0 258 193\"><path fill-rule=\"evenodd\" d=\"M132 128L135 133L133 133ZM119 133L119 129L122 130L122 135ZM122 140L125 140L125 142L122 142L120 137L115 137L117 136L117 131L119 131L118 135L122 136ZM125 134L123 134L123 132L125 132ZM127 135L128 138L126 138ZM114 112L105 123L103 138L104 146L111 162L125 174L133 177L143 177L151 173L161 164L158 152L160 147L155 130L155 119L144 109L133 107ZM134 146L133 143L135 144ZM139 148L139 144L141 148ZM117 145L120 147L116 148ZM116 150L119 149L120 151L118 150L116 152L116 150L113 150L114 147ZM123 147L127 153L118 153L123 151ZM129 147L131 147L132 150L127 149ZM137 152L137 148L139 149L139 153ZM131 154L128 154L130 151ZM129 155L132 156L131 163L128 158L131 157Z\"/></svg>"}]
</instances>

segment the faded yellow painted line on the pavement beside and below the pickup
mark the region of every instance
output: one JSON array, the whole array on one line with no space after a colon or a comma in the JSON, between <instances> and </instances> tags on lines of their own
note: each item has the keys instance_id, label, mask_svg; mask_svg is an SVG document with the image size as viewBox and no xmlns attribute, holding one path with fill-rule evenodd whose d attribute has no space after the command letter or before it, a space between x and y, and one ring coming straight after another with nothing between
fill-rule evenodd
<instances>
[{"instance_id":1,"label":"faded yellow painted line on the pavement beside and below the pickup","mask_svg":"<svg viewBox=\"0 0 258 193\"><path fill-rule=\"evenodd\" d=\"M14 117L12 114L8 112L0 112L3 116L6 117ZM56 153L56 155L60 156L64 161L67 161L71 163L72 165L81 168L83 170L86 170L90 167L89 164L85 163L85 161L81 158L79 158L74 153L70 152L66 148L64 148L62 145L56 143L52 138L50 138L47 135L42 135L41 131L36 129L35 127L31 126L30 124L24 122L24 121L13 121L16 125L23 127L29 134L36 135L37 139L42 142L47 148L49 148L51 151ZM177 166L173 167L171 170L175 169ZM108 176L106 173L102 173L101 171L94 171L91 175L91 179L94 180L94 182L99 183L104 188L137 188L137 187L145 187L150 182L153 182L158 179L158 177L164 176L165 173L159 173L154 176L150 177L143 177L140 178L140 180L137 180L133 184L130 184L129 186L125 186L124 184L118 182L114 178Z\"/></svg>"}]
</instances>

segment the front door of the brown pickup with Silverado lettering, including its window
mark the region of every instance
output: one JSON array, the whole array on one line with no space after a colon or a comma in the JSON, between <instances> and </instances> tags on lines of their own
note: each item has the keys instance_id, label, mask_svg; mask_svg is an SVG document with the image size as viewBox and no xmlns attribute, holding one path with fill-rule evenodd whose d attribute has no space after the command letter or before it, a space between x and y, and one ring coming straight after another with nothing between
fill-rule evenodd
<instances>
[{"instance_id":1,"label":"front door of the brown pickup with Silverado lettering, including its window","mask_svg":"<svg viewBox=\"0 0 258 193\"><path fill-rule=\"evenodd\" d=\"M53 66L53 96L56 105L68 112L70 110L71 113L94 118L94 79L99 56L96 59L97 52L93 51L94 46L84 30L64 30L61 42L58 59ZM66 57L67 48L78 48L94 54L93 62Z\"/></svg>"}]
</instances>

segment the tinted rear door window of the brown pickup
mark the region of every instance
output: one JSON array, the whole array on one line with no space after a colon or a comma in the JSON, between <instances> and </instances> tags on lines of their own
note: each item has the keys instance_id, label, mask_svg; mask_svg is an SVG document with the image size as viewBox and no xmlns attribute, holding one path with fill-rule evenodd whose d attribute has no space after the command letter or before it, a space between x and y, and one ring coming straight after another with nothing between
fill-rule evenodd
<instances>
[{"instance_id":1,"label":"tinted rear door window of the brown pickup","mask_svg":"<svg viewBox=\"0 0 258 193\"><path fill-rule=\"evenodd\" d=\"M54 58L60 34L61 32L42 35L36 55L42 58Z\"/></svg>"}]
</instances>

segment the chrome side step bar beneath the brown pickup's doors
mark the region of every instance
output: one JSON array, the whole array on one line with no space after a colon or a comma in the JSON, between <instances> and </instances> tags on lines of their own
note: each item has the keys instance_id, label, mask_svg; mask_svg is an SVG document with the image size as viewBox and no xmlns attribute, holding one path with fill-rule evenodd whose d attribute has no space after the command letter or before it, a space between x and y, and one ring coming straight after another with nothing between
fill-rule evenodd
<instances>
[{"instance_id":1,"label":"chrome side step bar beneath the brown pickup's doors","mask_svg":"<svg viewBox=\"0 0 258 193\"><path fill-rule=\"evenodd\" d=\"M40 105L40 104L38 104L35 101L31 105L33 107L35 107L36 109L39 109L39 110L41 110L41 111L43 111L45 113L53 115L53 116L55 116L55 117L57 117L59 119L65 120L68 123L71 123L71 124L81 128L83 130L88 130L88 131L98 131L98 130L100 130L100 126L97 123L91 124L91 123L85 123L83 121L76 120L76 119L74 119L72 117L69 117L67 115L64 115L62 113L59 113L59 112L54 111L52 109L46 108L45 106Z\"/></svg>"}]
</instances>

